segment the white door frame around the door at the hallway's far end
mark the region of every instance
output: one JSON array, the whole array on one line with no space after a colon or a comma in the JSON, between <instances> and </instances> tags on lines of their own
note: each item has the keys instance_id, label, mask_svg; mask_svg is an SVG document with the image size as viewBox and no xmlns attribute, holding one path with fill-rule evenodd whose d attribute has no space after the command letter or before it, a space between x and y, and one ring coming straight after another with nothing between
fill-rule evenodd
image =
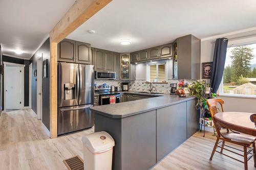
<instances>
[{"instance_id":1,"label":"white door frame around the door at the hallway's far end","mask_svg":"<svg viewBox=\"0 0 256 170\"><path fill-rule=\"evenodd\" d=\"M20 109L24 109L24 64L16 64L16 63L10 63L10 62L3 62L4 63L4 112L6 112L6 76L5 76L5 71L6 71L6 66L18 66L22 70L20 72L20 97L21 97L21 106Z\"/></svg>"}]
</instances>

